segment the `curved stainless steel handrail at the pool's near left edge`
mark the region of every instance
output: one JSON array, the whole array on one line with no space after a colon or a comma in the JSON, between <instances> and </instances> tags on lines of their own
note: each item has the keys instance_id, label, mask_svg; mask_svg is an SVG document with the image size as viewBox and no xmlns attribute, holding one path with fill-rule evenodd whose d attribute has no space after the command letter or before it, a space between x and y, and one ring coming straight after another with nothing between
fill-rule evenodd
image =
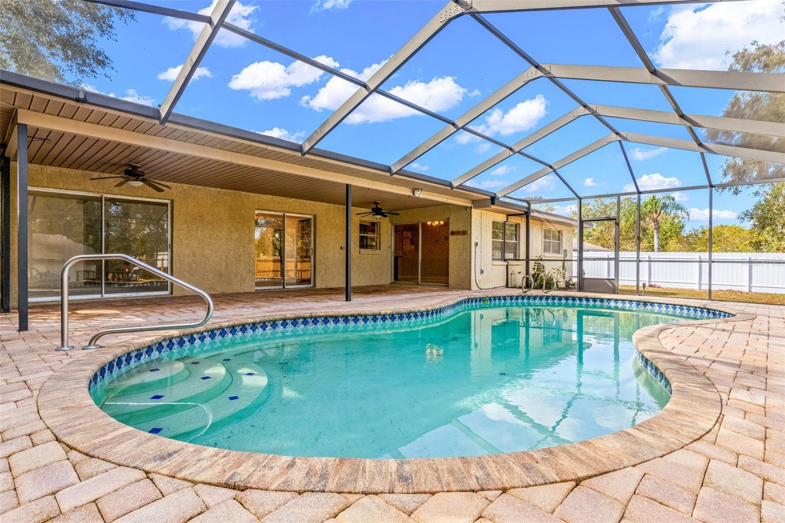
<instances>
[{"instance_id":1,"label":"curved stainless steel handrail at the pool's near left edge","mask_svg":"<svg viewBox=\"0 0 785 523\"><path fill-rule=\"evenodd\" d=\"M139 332L139 331L168 331L170 329L185 329L185 328L192 328L192 327L201 327L202 325L206 324L207 321L210 320L210 317L213 316L213 300L210 298L210 294L207 294L205 291L194 287L188 283L185 283L183 280L179 278L175 278L170 274L166 274L160 269L156 269L152 265L148 265L137 258L132 258L128 254L79 254L79 256L75 256L65 262L63 265L63 271L60 273L60 343L61 346L57 350L71 350L74 348L72 345L68 345L68 271L71 269L71 266L77 262L84 262L85 260L124 260L126 262L132 263L133 265L137 265L137 267L141 267L146 271L152 272L158 276L161 276L163 279L168 280L184 289L188 289L188 291L192 291L195 294L199 294L204 301L207 303L207 312L204 315L202 320L197 321L196 323L192 324L163 324L163 325L141 325L139 327L114 327L109 329L104 329L103 331L99 331L90 338L89 343L82 347L82 349L97 349L99 345L97 341L99 338L108 335L108 334L115 334L117 332Z\"/></svg>"}]
</instances>

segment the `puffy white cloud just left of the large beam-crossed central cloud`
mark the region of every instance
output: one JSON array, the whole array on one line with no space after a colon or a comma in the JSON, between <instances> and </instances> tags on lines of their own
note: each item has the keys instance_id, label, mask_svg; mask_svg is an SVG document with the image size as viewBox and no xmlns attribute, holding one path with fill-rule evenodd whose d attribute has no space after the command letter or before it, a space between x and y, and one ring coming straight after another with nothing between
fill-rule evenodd
<instances>
[{"instance_id":1,"label":"puffy white cloud just left of the large beam-crossed central cloud","mask_svg":"<svg viewBox=\"0 0 785 523\"><path fill-rule=\"evenodd\" d=\"M338 67L338 62L330 57L320 55L314 60L330 66ZM301 87L316 82L324 72L300 61L288 66L265 60L246 66L243 71L232 76L229 88L233 90L249 90L257 100L275 100L288 97L291 87Z\"/></svg>"}]
</instances>

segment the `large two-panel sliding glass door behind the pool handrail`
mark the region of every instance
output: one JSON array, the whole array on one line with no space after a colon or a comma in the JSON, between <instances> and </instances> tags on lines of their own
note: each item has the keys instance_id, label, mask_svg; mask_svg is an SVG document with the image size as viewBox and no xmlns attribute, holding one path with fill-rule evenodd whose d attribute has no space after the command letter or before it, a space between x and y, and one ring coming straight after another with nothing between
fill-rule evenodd
<instances>
[{"instance_id":1,"label":"large two-panel sliding glass door behind the pool handrail","mask_svg":"<svg viewBox=\"0 0 785 523\"><path fill-rule=\"evenodd\" d=\"M79 254L122 253L170 272L170 204L31 189L28 291L32 302L60 298L60 271ZM126 262L80 262L71 298L167 294L169 283Z\"/></svg>"}]
</instances>

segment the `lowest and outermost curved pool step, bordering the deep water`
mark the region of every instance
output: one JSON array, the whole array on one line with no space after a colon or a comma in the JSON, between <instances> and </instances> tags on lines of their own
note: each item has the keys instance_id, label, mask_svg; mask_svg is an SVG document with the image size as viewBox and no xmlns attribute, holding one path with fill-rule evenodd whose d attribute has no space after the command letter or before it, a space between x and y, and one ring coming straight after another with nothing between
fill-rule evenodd
<instances>
[{"instance_id":1,"label":"lowest and outermost curved pool step, bordering the deep water","mask_svg":"<svg viewBox=\"0 0 785 523\"><path fill-rule=\"evenodd\" d=\"M236 419L232 416L259 408L270 395L267 373L249 360L225 356L221 354L215 359L222 360L221 363L232 377L232 382L220 394L202 404L192 405L187 410L133 423L133 426L145 432L188 440L203 433L208 426L215 430L218 426ZM227 359L229 361L225 361Z\"/></svg>"}]
</instances>

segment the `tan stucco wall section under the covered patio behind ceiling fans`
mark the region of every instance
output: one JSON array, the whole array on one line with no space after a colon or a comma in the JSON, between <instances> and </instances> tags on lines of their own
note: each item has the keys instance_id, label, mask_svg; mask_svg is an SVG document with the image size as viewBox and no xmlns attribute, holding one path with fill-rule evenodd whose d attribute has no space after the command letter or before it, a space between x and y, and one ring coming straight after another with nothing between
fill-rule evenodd
<instances>
[{"instance_id":1,"label":"tan stucco wall section under the covered patio behind ceiling fans","mask_svg":"<svg viewBox=\"0 0 785 523\"><path fill-rule=\"evenodd\" d=\"M12 195L16 194L16 163L11 165ZM90 181L105 174L60 167L30 165L31 188L57 188L113 196L170 199L172 201L172 272L174 276L210 293L254 291L254 211L270 210L316 216L316 287L344 284L345 208L278 196L227 191L195 185L167 184L172 189L154 192L128 185L115 188L114 180ZM389 283L391 279L390 223L379 220L381 250L360 252L360 219L352 210L352 285ZM12 302L16 300L16 197L12 196ZM175 289L175 294L188 294Z\"/></svg>"}]
</instances>

